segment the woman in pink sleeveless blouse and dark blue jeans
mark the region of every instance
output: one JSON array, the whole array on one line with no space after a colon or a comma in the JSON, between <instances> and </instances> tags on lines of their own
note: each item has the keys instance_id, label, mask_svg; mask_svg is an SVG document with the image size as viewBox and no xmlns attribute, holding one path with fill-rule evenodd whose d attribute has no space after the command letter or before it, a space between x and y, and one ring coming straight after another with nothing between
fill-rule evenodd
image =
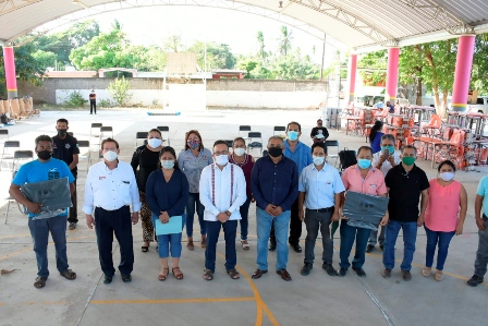
<instances>
[{"instance_id":1,"label":"woman in pink sleeveless blouse and dark blue jeans","mask_svg":"<svg viewBox=\"0 0 488 326\"><path fill-rule=\"evenodd\" d=\"M436 280L442 280L442 269L448 257L449 243L454 234L463 233L467 209L467 194L464 186L454 180L455 166L450 160L442 161L437 168L438 178L429 181L429 203L425 213L424 228L427 234L427 253L422 275L430 276L436 245Z\"/></svg>"}]
</instances>

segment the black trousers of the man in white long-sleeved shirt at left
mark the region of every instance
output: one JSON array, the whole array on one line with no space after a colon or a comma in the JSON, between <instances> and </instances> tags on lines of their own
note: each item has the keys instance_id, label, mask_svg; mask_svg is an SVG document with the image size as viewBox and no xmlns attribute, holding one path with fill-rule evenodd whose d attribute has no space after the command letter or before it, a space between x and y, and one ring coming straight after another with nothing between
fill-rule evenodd
<instances>
[{"instance_id":1,"label":"black trousers of the man in white long-sleeved shirt at left","mask_svg":"<svg viewBox=\"0 0 488 326\"><path fill-rule=\"evenodd\" d=\"M95 208L95 231L97 233L98 256L101 270L107 276L113 276L112 242L115 234L120 246L121 274L129 275L134 266L134 247L132 241L132 220L129 206L122 206L117 210Z\"/></svg>"}]
</instances>

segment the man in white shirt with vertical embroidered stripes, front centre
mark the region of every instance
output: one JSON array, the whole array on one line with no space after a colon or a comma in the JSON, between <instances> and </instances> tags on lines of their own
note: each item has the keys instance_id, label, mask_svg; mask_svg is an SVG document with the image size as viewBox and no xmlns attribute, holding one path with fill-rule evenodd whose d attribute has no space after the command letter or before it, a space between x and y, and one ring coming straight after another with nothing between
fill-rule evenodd
<instances>
[{"instance_id":1,"label":"man in white shirt with vertical embroidered stripes, front centre","mask_svg":"<svg viewBox=\"0 0 488 326\"><path fill-rule=\"evenodd\" d=\"M232 279L240 278L235 269L235 234L240 207L246 201L246 180L242 169L229 162L229 146L224 141L213 144L215 164L204 168L200 176L200 202L205 206L207 247L205 250L205 280L212 280L216 269L216 250L220 229L225 239L225 269Z\"/></svg>"}]
</instances>

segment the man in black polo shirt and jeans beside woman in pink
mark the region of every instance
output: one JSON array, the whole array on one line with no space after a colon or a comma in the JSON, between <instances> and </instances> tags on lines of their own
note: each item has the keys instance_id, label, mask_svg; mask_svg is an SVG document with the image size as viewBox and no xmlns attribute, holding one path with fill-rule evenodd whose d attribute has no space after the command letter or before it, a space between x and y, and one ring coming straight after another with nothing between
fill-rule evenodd
<instances>
[{"instance_id":1,"label":"man in black polo shirt and jeans beside woman in pink","mask_svg":"<svg viewBox=\"0 0 488 326\"><path fill-rule=\"evenodd\" d=\"M417 240L417 227L424 224L425 209L429 195L429 180L424 170L415 165L417 149L412 146L405 146L402 149L402 162L388 171L385 178L390 202L388 212L390 222L387 226L382 276L391 276L391 269L394 267L394 245L400 229L403 230L403 262L400 265L404 280L411 280L412 261L415 253L415 241ZM418 202L422 196L420 212L418 212ZM420 214L418 214L420 213Z\"/></svg>"}]
</instances>

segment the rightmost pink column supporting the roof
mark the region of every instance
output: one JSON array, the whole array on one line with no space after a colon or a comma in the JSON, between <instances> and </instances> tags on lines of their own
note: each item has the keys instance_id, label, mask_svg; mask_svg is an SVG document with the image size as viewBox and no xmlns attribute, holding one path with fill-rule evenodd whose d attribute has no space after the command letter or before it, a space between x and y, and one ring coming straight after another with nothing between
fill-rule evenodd
<instances>
[{"instance_id":1,"label":"rightmost pink column supporting the roof","mask_svg":"<svg viewBox=\"0 0 488 326\"><path fill-rule=\"evenodd\" d=\"M463 35L457 41L457 57L455 60L454 86L452 89L452 109L465 111L467 93L469 92L471 68L475 50L475 35Z\"/></svg>"}]
</instances>

